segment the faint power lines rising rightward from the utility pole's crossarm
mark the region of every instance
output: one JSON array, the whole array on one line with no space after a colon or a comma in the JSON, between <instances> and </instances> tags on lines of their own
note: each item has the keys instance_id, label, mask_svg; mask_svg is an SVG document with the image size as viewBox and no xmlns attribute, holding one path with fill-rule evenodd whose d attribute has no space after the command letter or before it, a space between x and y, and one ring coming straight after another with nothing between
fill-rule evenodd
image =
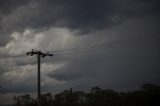
<instances>
[{"instance_id":1,"label":"faint power lines rising rightward from the utility pole's crossarm","mask_svg":"<svg viewBox=\"0 0 160 106\"><path fill-rule=\"evenodd\" d=\"M153 40L156 37L159 37L159 36L155 35L155 36L146 36L146 37L129 39L129 40L119 40L119 41L110 42L110 43L98 44L90 47L62 49L62 50L55 50L52 52L54 52L55 54L58 53L62 55L63 53L70 54L74 52L86 52L86 51L88 52L88 51L101 50L101 49L107 50L107 49L112 49L117 47L127 47L127 46L135 45L138 43L143 43L149 40Z\"/></svg>"}]
</instances>

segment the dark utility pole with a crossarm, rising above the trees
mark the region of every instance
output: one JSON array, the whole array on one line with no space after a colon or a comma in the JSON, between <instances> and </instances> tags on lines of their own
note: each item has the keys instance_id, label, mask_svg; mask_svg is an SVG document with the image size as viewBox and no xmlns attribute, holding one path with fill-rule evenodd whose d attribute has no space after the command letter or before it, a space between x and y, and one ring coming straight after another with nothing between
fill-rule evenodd
<instances>
[{"instance_id":1,"label":"dark utility pole with a crossarm, rising above the trees","mask_svg":"<svg viewBox=\"0 0 160 106\"><path fill-rule=\"evenodd\" d=\"M38 99L38 106L41 106L41 57L46 57L46 56L53 56L53 54L50 53L43 53L38 50L33 50L31 52L27 52L27 55L33 56L36 55L38 63L37 63L37 99Z\"/></svg>"}]
</instances>

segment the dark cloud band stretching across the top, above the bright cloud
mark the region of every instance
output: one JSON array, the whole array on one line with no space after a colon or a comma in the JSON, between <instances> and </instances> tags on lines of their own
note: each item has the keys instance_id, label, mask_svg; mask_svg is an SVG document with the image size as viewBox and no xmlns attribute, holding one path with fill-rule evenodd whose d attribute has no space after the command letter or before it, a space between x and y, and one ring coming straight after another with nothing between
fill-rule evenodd
<instances>
[{"instance_id":1,"label":"dark cloud band stretching across the top, above the bright cloud","mask_svg":"<svg viewBox=\"0 0 160 106\"><path fill-rule=\"evenodd\" d=\"M129 17L160 13L158 0L1 0L0 4L4 32L49 27L88 32L117 25Z\"/></svg>"}]
</instances>

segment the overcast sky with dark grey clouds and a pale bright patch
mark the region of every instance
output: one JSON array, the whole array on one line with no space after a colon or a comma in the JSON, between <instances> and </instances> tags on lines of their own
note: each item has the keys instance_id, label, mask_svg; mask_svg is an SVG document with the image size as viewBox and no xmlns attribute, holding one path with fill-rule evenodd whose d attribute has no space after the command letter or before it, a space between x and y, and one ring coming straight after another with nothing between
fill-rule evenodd
<instances>
[{"instance_id":1,"label":"overcast sky with dark grey clouds and a pale bright patch","mask_svg":"<svg viewBox=\"0 0 160 106\"><path fill-rule=\"evenodd\" d=\"M0 103L37 90L160 83L159 0L0 0Z\"/></svg>"}]
</instances>

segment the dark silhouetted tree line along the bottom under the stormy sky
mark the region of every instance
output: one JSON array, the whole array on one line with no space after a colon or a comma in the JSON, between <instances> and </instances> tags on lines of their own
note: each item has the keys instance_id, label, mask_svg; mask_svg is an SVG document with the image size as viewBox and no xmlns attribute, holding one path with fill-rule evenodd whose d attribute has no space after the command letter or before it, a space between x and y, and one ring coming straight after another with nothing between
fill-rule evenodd
<instances>
[{"instance_id":1,"label":"dark silhouetted tree line along the bottom under the stormy sky","mask_svg":"<svg viewBox=\"0 0 160 106\"><path fill-rule=\"evenodd\" d=\"M37 106L30 95L14 96L14 106ZM41 106L160 106L160 85L143 84L141 89L116 92L93 87L89 92L71 88L56 95L41 95Z\"/></svg>"}]
</instances>

